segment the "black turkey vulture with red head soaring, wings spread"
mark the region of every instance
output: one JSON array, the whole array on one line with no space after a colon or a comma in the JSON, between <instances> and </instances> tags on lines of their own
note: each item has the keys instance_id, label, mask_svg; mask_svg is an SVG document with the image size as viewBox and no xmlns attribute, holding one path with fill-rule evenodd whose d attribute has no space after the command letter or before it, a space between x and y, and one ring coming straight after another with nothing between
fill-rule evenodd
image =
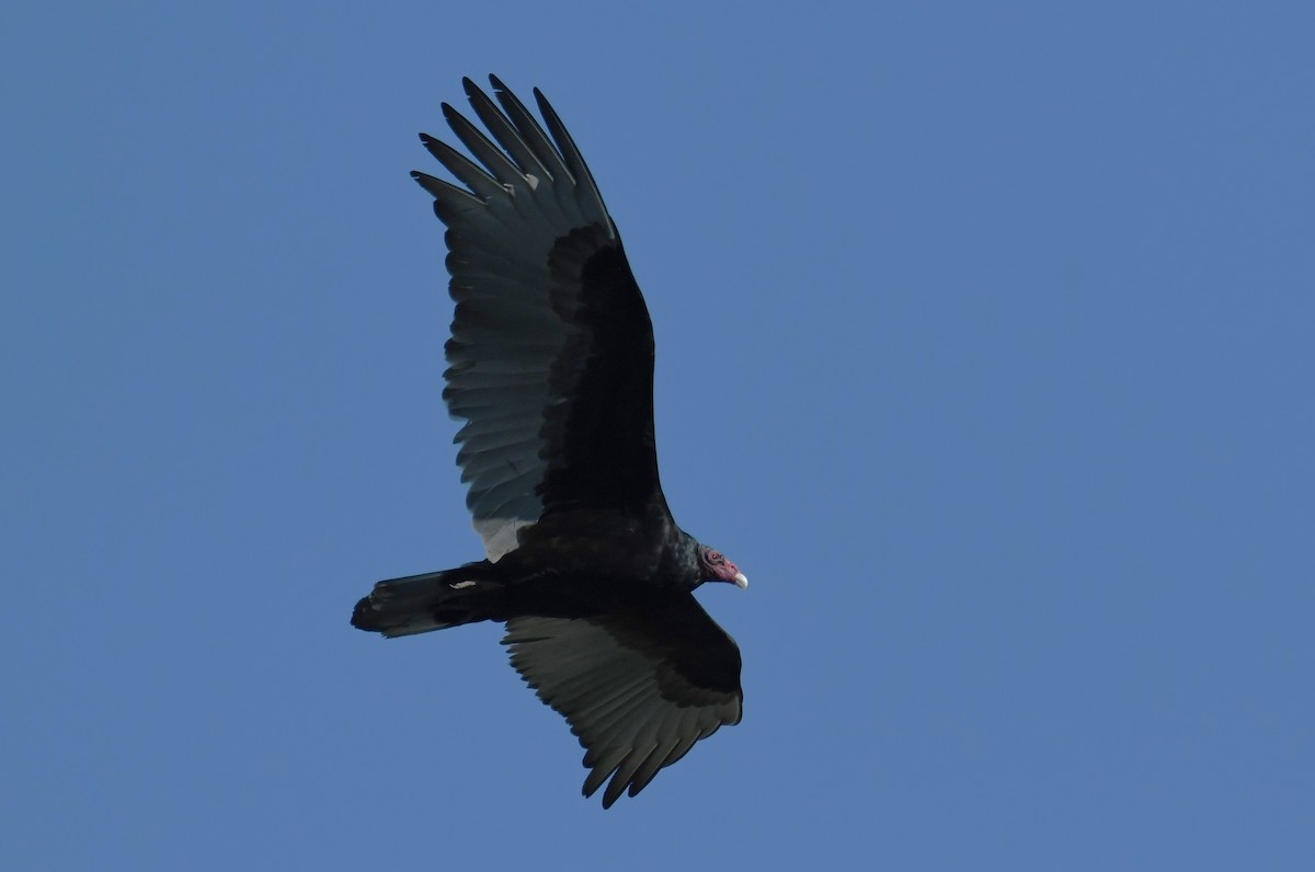
<instances>
[{"instance_id":1,"label":"black turkey vulture with red head soaring, wings spread","mask_svg":"<svg viewBox=\"0 0 1315 872\"><path fill-rule=\"evenodd\" d=\"M456 303L443 400L485 560L380 581L354 626L385 637L506 623L512 666L585 748L584 794L635 796L739 723L735 642L694 600L748 579L676 526L658 479L654 335L617 226L571 134L496 76L464 79L485 137L443 117L477 163L421 134L466 187L412 176L447 225ZM610 779L610 781L609 781Z\"/></svg>"}]
</instances>

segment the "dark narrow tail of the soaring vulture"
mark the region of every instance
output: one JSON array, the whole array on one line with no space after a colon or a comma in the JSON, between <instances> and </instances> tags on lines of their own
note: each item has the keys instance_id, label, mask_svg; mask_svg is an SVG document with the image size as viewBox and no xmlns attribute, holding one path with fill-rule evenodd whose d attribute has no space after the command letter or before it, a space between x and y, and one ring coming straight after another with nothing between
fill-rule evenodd
<instances>
[{"instance_id":1,"label":"dark narrow tail of the soaring vulture","mask_svg":"<svg viewBox=\"0 0 1315 872\"><path fill-rule=\"evenodd\" d=\"M356 604L351 625L392 638L506 619L506 587L489 577L489 566L484 560L380 581Z\"/></svg>"}]
</instances>

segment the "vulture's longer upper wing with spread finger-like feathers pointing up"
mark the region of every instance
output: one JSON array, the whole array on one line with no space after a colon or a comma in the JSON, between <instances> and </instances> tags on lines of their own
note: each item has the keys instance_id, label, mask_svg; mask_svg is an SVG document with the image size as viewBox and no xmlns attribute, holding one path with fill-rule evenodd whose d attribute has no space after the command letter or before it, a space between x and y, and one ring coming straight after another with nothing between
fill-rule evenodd
<instances>
[{"instance_id":1,"label":"vulture's longer upper wing with spread finger-like feathers pointing up","mask_svg":"<svg viewBox=\"0 0 1315 872\"><path fill-rule=\"evenodd\" d=\"M593 176L535 89L551 137L497 78L466 93L489 141L446 103L475 163L427 135L467 188L413 172L447 225L456 301L443 399L489 560L546 514L659 504L648 310Z\"/></svg>"}]
</instances>

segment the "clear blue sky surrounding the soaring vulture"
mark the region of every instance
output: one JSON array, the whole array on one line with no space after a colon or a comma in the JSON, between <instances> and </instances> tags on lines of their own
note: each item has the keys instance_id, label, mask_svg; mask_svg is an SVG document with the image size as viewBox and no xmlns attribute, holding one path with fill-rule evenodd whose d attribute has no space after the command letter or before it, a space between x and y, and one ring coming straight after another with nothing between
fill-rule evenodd
<instances>
[{"instance_id":1,"label":"clear blue sky surrounding the soaring vulture","mask_svg":"<svg viewBox=\"0 0 1315 872\"><path fill-rule=\"evenodd\" d=\"M1315 12L0 12L0 865L1315 868ZM460 76L542 87L658 331L746 715L604 813L439 400ZM805 864L817 864L809 865Z\"/></svg>"}]
</instances>

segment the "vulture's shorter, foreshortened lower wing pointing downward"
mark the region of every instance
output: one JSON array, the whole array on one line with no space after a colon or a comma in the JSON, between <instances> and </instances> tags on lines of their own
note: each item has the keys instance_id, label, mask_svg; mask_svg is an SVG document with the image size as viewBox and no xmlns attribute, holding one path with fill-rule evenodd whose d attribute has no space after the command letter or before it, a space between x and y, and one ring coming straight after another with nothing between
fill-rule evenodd
<instances>
[{"instance_id":1,"label":"vulture's shorter, foreshortened lower wing pointing downward","mask_svg":"<svg viewBox=\"0 0 1315 872\"><path fill-rule=\"evenodd\" d=\"M518 617L506 629L512 666L580 737L584 794L611 779L602 808L740 721L739 648L689 594L623 614Z\"/></svg>"}]
</instances>

